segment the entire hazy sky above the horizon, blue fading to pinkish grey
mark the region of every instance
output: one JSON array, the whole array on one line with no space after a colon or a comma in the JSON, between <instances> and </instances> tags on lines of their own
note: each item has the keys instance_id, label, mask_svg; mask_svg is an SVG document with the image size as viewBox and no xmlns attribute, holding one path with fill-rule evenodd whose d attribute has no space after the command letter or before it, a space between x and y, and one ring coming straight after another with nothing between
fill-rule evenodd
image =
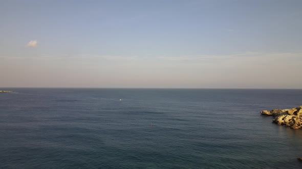
<instances>
[{"instance_id":1,"label":"entire hazy sky above the horizon, blue fading to pinkish grey","mask_svg":"<svg viewBox=\"0 0 302 169\"><path fill-rule=\"evenodd\" d=\"M0 87L302 88L302 1L0 0Z\"/></svg>"}]
</instances>

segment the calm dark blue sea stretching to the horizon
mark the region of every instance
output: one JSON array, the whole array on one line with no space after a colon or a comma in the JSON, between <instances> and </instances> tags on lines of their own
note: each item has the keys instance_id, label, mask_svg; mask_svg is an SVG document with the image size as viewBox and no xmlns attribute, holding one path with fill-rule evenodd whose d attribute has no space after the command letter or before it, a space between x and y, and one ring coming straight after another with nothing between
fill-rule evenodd
<instances>
[{"instance_id":1,"label":"calm dark blue sea stretching to the horizon","mask_svg":"<svg viewBox=\"0 0 302 169\"><path fill-rule=\"evenodd\" d=\"M259 114L302 90L5 90L0 168L302 168L302 130Z\"/></svg>"}]
</instances>

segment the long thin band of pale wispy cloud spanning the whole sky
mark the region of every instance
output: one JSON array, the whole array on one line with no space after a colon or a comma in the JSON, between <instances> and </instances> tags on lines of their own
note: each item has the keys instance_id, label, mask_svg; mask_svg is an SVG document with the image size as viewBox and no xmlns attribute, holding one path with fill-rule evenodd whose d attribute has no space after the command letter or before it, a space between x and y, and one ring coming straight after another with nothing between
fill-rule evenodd
<instances>
[{"instance_id":1,"label":"long thin band of pale wispy cloud spanning the whole sky","mask_svg":"<svg viewBox=\"0 0 302 169\"><path fill-rule=\"evenodd\" d=\"M187 55L180 57L167 57L167 56L119 56L119 55L101 55L101 54L39 54L24 56L20 55L0 55L3 59L101 59L104 61L113 62L132 62L132 61L163 61L169 63L218 63L218 62L272 62L281 63L296 60L297 62L302 61L302 52L242 52L242 53L232 53L232 54L221 54L221 55Z\"/></svg>"}]
</instances>

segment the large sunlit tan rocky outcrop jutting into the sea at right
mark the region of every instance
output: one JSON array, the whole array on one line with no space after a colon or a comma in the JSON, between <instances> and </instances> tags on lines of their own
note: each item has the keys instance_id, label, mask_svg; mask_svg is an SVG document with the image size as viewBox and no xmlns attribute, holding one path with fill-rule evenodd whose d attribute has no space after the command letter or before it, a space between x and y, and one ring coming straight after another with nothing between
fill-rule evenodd
<instances>
[{"instance_id":1,"label":"large sunlit tan rocky outcrop jutting into the sea at right","mask_svg":"<svg viewBox=\"0 0 302 169\"><path fill-rule=\"evenodd\" d=\"M302 128L302 106L290 109L263 110L262 115L273 116L273 122L278 125L288 126L292 129Z\"/></svg>"}]
</instances>

